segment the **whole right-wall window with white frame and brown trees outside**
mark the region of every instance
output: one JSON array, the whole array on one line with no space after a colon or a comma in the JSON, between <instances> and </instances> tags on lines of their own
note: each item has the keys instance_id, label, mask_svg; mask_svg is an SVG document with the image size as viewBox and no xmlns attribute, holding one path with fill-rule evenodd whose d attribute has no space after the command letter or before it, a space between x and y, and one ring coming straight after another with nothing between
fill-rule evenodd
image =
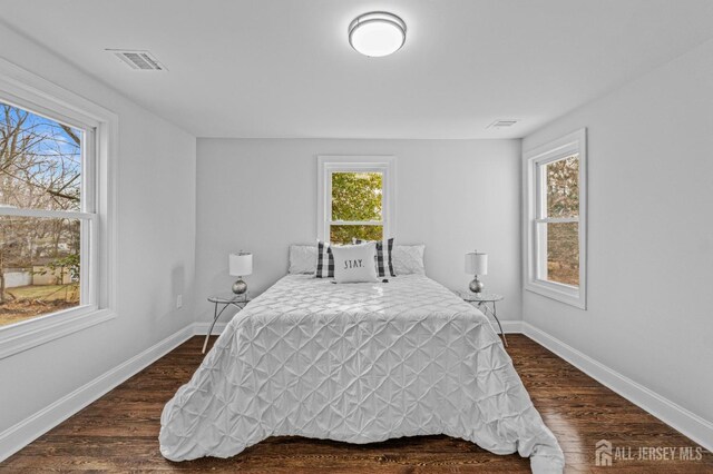
<instances>
[{"instance_id":1,"label":"whole right-wall window with white frame and brown trees outside","mask_svg":"<svg viewBox=\"0 0 713 474\"><path fill-rule=\"evenodd\" d=\"M586 131L525 154L525 288L586 308Z\"/></svg>"}]
</instances>

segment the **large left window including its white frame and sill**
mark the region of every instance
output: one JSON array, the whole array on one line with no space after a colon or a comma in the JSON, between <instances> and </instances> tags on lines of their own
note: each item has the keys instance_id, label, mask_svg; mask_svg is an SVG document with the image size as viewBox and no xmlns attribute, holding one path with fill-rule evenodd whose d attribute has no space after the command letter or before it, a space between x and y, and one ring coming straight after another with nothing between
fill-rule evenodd
<instances>
[{"instance_id":1,"label":"large left window including its white frame and sill","mask_svg":"<svg viewBox=\"0 0 713 474\"><path fill-rule=\"evenodd\" d=\"M0 358L115 317L116 129L0 59Z\"/></svg>"}]
</instances>

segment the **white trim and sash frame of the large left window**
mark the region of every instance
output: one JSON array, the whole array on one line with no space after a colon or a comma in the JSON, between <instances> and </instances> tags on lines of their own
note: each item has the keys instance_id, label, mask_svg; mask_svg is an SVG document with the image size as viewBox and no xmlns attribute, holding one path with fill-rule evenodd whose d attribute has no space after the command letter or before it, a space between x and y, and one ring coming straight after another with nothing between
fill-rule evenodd
<instances>
[{"instance_id":1,"label":"white trim and sash frame of the large left window","mask_svg":"<svg viewBox=\"0 0 713 474\"><path fill-rule=\"evenodd\" d=\"M90 248L94 275L85 278L82 285L92 295L88 304L26 322L0 327L0 359L37 347L78 330L110 320L117 315L117 211L116 211L116 157L118 151L118 116L67 89L40 78L0 58L0 99L49 117L61 119L69 125L85 128L91 125L96 140L96 156L82 172L95 175L99 192L90 201L96 217L91 217L92 229L98 238ZM90 136L91 134L87 134ZM94 168L94 169L91 169ZM84 203L82 203L84 206ZM64 213L64 217L87 217L86 208L79 213ZM4 209L4 215L13 210ZM23 210L23 215L56 217L51 211ZM51 216L50 216L51 214ZM76 214L76 216L72 216ZM85 289L82 287L82 289Z\"/></svg>"}]
</instances>

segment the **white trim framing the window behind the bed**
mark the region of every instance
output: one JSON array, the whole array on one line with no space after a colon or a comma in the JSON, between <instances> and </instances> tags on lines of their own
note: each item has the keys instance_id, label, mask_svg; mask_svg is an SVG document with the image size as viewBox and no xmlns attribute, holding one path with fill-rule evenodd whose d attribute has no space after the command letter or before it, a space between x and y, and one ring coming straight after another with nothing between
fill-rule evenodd
<instances>
[{"instance_id":1,"label":"white trim framing the window behind the bed","mask_svg":"<svg viewBox=\"0 0 713 474\"><path fill-rule=\"evenodd\" d=\"M339 171L356 171L356 172L381 172L383 174L383 194L382 194L382 217L383 234L385 240L395 233L395 223L393 217L394 197L395 197L395 157L394 156L365 156L365 155L321 155L318 156L318 216L316 216L316 236L322 241L330 239L330 226L332 223L332 172ZM340 221L339 224L360 224L360 225L382 225L380 221Z\"/></svg>"}]
</instances>

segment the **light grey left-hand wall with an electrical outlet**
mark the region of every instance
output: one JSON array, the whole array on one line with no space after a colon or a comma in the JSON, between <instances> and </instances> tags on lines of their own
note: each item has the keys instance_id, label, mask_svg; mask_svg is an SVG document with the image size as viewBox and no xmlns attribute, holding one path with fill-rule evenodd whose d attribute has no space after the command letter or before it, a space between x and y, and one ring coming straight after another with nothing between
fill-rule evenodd
<instances>
[{"instance_id":1,"label":"light grey left-hand wall with an electrical outlet","mask_svg":"<svg viewBox=\"0 0 713 474\"><path fill-rule=\"evenodd\" d=\"M2 433L193 320L195 138L1 24L0 45L4 59L119 117L118 317L1 359Z\"/></svg>"}]
</instances>

